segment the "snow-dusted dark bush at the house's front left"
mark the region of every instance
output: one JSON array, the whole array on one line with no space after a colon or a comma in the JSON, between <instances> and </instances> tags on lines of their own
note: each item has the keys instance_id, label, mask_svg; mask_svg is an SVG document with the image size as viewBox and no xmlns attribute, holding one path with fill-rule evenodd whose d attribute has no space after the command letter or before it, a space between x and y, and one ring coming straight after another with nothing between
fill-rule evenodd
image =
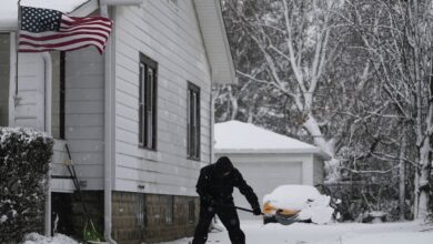
<instances>
[{"instance_id":1,"label":"snow-dusted dark bush at the house's front left","mask_svg":"<svg viewBox=\"0 0 433 244\"><path fill-rule=\"evenodd\" d=\"M0 243L40 231L53 141L32 129L0 128Z\"/></svg>"}]
</instances>

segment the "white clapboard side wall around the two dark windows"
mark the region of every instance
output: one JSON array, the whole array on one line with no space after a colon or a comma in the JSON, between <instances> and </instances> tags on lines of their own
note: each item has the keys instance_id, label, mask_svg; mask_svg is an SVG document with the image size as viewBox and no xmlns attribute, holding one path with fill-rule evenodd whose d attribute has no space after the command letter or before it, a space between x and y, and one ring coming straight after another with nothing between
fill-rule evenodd
<instances>
[{"instance_id":1,"label":"white clapboard side wall around the two dark windows","mask_svg":"<svg viewBox=\"0 0 433 244\"><path fill-rule=\"evenodd\" d=\"M191 0L115 9L114 190L195 195L210 163L211 77ZM158 62L158 150L139 148L139 53ZM188 81L201 89L201 162L187 160Z\"/></svg>"}]
</instances>

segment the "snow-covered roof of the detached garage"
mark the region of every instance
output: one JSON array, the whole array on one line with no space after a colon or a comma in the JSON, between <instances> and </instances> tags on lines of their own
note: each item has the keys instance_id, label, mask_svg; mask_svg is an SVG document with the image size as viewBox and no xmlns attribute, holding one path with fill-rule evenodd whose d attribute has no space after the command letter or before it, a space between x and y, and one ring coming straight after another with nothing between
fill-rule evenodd
<instances>
[{"instance_id":1,"label":"snow-covered roof of the detached garage","mask_svg":"<svg viewBox=\"0 0 433 244\"><path fill-rule=\"evenodd\" d=\"M325 155L314 145L251 123L240 121L216 123L214 131L216 152L318 153Z\"/></svg>"}]
</instances>

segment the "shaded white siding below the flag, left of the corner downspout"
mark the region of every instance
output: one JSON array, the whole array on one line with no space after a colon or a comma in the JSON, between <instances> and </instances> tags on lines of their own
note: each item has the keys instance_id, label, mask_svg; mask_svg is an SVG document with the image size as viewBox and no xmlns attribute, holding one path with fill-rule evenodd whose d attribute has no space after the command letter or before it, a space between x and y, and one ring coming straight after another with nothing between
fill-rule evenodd
<instances>
[{"instance_id":1,"label":"shaded white siding below the flag, left of the corner downspout","mask_svg":"<svg viewBox=\"0 0 433 244\"><path fill-rule=\"evenodd\" d=\"M103 189L103 55L94 48L67 53L64 131L79 181L87 182L83 190Z\"/></svg>"}]
</instances>

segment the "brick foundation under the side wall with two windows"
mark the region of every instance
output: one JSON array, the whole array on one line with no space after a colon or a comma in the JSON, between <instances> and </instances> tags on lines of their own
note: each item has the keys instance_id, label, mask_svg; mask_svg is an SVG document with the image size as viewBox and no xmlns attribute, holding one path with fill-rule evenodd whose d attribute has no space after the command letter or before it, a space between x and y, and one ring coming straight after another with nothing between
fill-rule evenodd
<instances>
[{"instance_id":1,"label":"brick foundation under the side wall with two windows","mask_svg":"<svg viewBox=\"0 0 433 244\"><path fill-rule=\"evenodd\" d=\"M190 196L114 192L112 207L113 238L122 244L192 236L199 214L199 201Z\"/></svg>"}]
</instances>

